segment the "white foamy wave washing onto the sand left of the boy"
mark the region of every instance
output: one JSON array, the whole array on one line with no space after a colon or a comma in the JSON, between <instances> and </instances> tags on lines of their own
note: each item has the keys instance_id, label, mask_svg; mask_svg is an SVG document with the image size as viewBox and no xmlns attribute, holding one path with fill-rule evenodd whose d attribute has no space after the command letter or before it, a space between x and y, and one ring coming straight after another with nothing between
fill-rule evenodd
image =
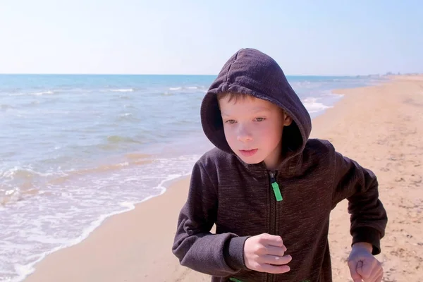
<instances>
[{"instance_id":1,"label":"white foamy wave washing onto the sand left of the boy","mask_svg":"<svg viewBox=\"0 0 423 282\"><path fill-rule=\"evenodd\" d=\"M135 152L125 157L136 161L150 156ZM14 259L13 262L0 260L1 270L8 271L11 281L22 281L44 257L80 243L109 216L128 212L135 204L166 192L171 181L189 175L198 157L154 159L154 164L145 169L128 168L123 162L115 165L121 166L122 173L108 171L100 177L80 176L88 171L79 171L75 181L54 186L52 197L20 204L20 209L8 211L7 220L3 225L0 223L1 228L8 226L4 240L0 240L1 255L13 255ZM144 181L147 185L140 185ZM128 185L133 188L127 190Z\"/></svg>"}]
</instances>

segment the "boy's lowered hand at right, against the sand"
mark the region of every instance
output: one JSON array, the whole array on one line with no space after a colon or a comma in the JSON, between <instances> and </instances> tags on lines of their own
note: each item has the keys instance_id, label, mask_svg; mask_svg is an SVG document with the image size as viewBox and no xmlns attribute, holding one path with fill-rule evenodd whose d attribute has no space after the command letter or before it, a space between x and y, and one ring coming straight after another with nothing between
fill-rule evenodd
<instances>
[{"instance_id":1,"label":"boy's lowered hand at right, against the sand","mask_svg":"<svg viewBox=\"0 0 423 282\"><path fill-rule=\"evenodd\" d=\"M351 278L354 282L381 282L384 269L381 263L372 255L372 245L355 243L348 257Z\"/></svg>"}]
</instances>

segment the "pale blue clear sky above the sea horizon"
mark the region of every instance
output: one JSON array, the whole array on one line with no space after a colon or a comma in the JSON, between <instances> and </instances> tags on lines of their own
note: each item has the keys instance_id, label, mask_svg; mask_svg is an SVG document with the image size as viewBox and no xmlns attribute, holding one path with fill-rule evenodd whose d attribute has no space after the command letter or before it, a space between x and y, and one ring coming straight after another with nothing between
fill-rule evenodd
<instances>
[{"instance_id":1,"label":"pale blue clear sky above the sea horizon","mask_svg":"<svg viewBox=\"0 0 423 282\"><path fill-rule=\"evenodd\" d=\"M0 27L0 73L214 75L243 47L288 75L423 73L423 1L2 0Z\"/></svg>"}]
</instances>

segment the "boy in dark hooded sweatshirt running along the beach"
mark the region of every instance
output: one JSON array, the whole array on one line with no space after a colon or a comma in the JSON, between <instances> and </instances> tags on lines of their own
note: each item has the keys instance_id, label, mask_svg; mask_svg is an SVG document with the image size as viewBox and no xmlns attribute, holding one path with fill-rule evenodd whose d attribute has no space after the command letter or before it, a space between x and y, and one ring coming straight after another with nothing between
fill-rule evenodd
<instances>
[{"instance_id":1,"label":"boy in dark hooded sweatshirt running along the beach","mask_svg":"<svg viewBox=\"0 0 423 282\"><path fill-rule=\"evenodd\" d=\"M329 214L346 198L353 281L381 281L373 255L387 216L376 176L309 139L309 114L276 61L255 49L234 54L201 119L216 148L192 170L173 244L182 265L212 281L330 282Z\"/></svg>"}]
</instances>

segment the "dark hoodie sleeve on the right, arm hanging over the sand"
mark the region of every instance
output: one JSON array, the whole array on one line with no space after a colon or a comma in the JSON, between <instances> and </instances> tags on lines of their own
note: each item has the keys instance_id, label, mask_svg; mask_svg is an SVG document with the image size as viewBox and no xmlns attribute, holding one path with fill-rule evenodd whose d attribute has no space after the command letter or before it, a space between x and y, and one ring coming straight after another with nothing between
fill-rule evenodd
<instances>
[{"instance_id":1,"label":"dark hoodie sleeve on the right, arm hanging over the sand","mask_svg":"<svg viewBox=\"0 0 423 282\"><path fill-rule=\"evenodd\" d=\"M336 154L336 173L333 189L333 205L348 200L350 233L353 244L366 242L373 245L373 255L381 252L380 240L384 237L388 218L379 200L378 182L372 171L356 161Z\"/></svg>"}]
</instances>

